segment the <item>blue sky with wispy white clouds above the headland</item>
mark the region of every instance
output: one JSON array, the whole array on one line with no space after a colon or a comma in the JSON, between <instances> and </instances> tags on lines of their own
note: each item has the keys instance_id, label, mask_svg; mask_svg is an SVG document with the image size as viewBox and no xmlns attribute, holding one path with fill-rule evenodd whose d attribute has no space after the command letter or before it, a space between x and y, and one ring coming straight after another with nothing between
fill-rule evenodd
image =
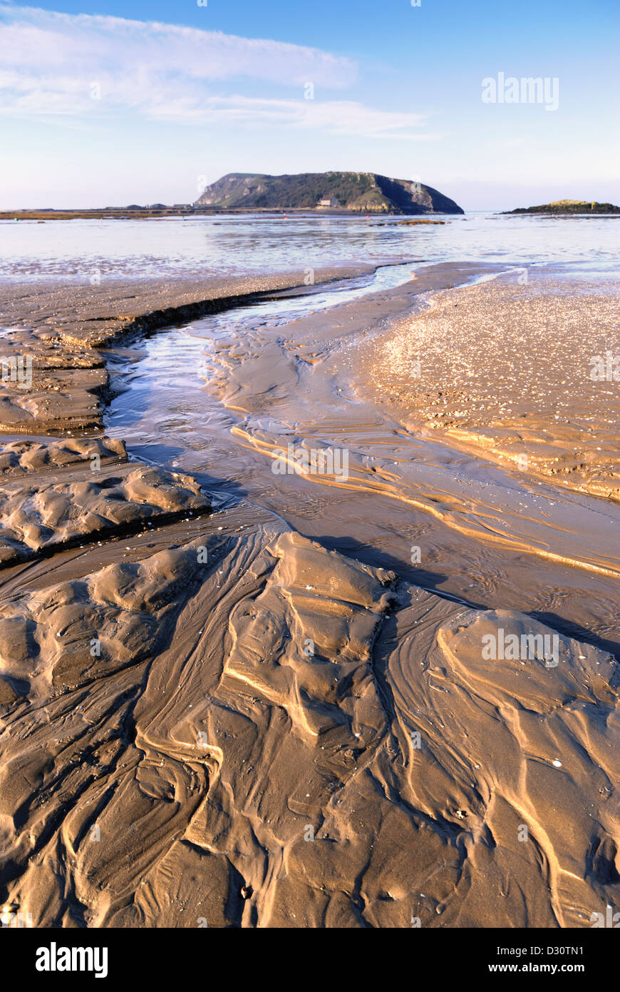
<instances>
[{"instance_id":1,"label":"blue sky with wispy white clouds above the headland","mask_svg":"<svg viewBox=\"0 0 620 992\"><path fill-rule=\"evenodd\" d=\"M0 0L0 206L330 169L465 209L618 202L619 28L618 0ZM483 102L498 73L548 78L557 108Z\"/></svg>"}]
</instances>

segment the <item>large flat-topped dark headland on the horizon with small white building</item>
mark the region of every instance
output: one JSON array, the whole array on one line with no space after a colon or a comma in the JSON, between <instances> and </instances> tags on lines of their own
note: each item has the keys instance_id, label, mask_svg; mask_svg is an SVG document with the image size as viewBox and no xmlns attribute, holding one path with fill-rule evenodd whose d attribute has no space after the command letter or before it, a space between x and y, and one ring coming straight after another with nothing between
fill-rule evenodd
<instances>
[{"instance_id":1,"label":"large flat-topped dark headland on the horizon with small white building","mask_svg":"<svg viewBox=\"0 0 620 992\"><path fill-rule=\"evenodd\" d=\"M323 201L323 203L321 203ZM365 213L464 213L454 199L409 180L374 173L229 173L207 186L195 206Z\"/></svg>"}]
</instances>

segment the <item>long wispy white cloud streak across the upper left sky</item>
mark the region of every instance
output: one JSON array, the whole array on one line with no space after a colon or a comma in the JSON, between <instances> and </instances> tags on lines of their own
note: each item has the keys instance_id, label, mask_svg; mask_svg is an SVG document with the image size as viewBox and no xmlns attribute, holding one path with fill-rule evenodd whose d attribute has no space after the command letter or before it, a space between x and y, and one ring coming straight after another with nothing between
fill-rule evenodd
<instances>
[{"instance_id":1,"label":"long wispy white cloud streak across the upper left sky","mask_svg":"<svg viewBox=\"0 0 620 992\"><path fill-rule=\"evenodd\" d=\"M358 76L355 62L318 49L0 4L0 51L0 113L13 116L130 111L178 124L271 123L369 138L432 137L411 133L424 123L419 114L305 99L308 82L320 92L349 87ZM231 85L236 92L222 95ZM241 92L246 86L252 96ZM277 86L281 98L270 95Z\"/></svg>"}]
</instances>

